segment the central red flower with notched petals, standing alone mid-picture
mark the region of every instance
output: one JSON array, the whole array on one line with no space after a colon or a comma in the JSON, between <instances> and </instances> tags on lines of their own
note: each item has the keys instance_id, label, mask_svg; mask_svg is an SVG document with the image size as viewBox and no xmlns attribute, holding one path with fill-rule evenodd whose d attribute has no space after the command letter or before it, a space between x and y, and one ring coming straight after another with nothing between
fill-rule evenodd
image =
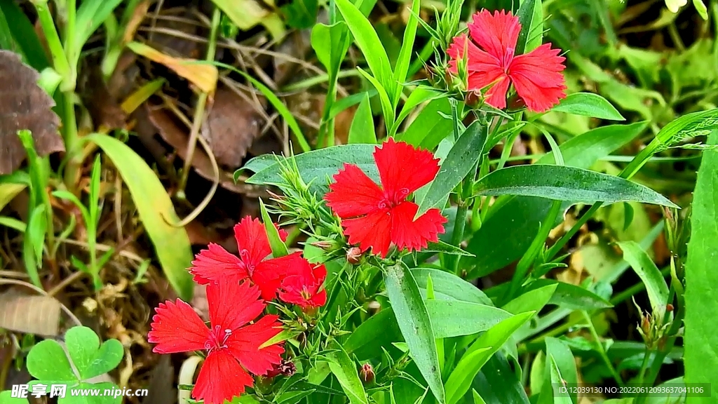
<instances>
[{"instance_id":1,"label":"central red flower with notched petals, standing alone mid-picture","mask_svg":"<svg viewBox=\"0 0 718 404\"><path fill-rule=\"evenodd\" d=\"M325 196L327 205L342 218L350 244L358 243L362 252L371 247L386 257L391 243L412 250L437 242L447 219L432 208L414 221L419 206L407 198L436 177L439 160L429 151L390 138L376 147L374 161L381 187L356 165L345 164Z\"/></svg>"}]
</instances>

